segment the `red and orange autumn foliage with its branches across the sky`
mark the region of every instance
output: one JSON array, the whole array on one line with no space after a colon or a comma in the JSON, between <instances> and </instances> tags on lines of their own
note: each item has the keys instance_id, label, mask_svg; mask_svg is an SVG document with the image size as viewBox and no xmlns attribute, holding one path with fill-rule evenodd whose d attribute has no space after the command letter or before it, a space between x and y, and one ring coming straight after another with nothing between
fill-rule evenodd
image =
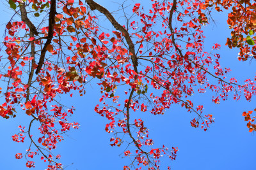
<instances>
[{"instance_id":1,"label":"red and orange autumn foliage with its branches across the sky","mask_svg":"<svg viewBox=\"0 0 256 170\"><path fill-rule=\"evenodd\" d=\"M236 78L227 80L230 69L220 66L220 45L212 44L211 52L205 51L204 25L211 24L212 10L231 10L228 47L240 49L239 60L256 59L256 3L129 3L132 8L121 6L124 13L120 15L124 16L118 19L93 0L9 0L16 13L6 24L1 49L4 103L0 115L8 119L27 114L31 119L28 125L20 123L19 132L12 136L15 142L32 143L26 152L15 155L16 159L26 157L27 167L34 167L33 157L39 155L49 162L48 169L63 169L65 162L60 163L61 156L53 155L52 150L63 141L63 133L78 129L79 123L70 122L69 117L76 112L73 106L60 103L60 97L74 93L86 96L91 81L100 87L102 95L94 111L109 121L105 128L112 134L109 144L127 145L124 157L132 161L124 169L160 169L161 157L175 160L178 153L175 146L154 146L147 122L131 118L134 111L163 115L173 104L179 104L194 113L192 127L207 131L214 118L204 113L204 103L193 104L193 94L209 91L209 100L216 104L229 96L235 100L244 96L250 101L255 95L254 81L238 84ZM144 10L148 3L149 10ZM103 22L110 29L102 27ZM250 121L250 132L256 131L251 113L243 113ZM36 121L39 127L32 125ZM31 128L38 129L38 138L31 134ZM124 135L128 144L122 141Z\"/></svg>"}]
</instances>

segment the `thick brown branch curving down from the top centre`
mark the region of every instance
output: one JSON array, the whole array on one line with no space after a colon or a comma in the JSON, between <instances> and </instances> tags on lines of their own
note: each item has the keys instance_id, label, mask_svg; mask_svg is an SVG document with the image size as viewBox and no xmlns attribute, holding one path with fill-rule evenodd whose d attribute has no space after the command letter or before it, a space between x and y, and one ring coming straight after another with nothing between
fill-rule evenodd
<instances>
[{"instance_id":1,"label":"thick brown branch curving down from the top centre","mask_svg":"<svg viewBox=\"0 0 256 170\"><path fill-rule=\"evenodd\" d=\"M118 22L116 22L113 15L111 15L111 13L106 8L104 8L103 6L101 6L98 3L95 3L93 0L86 0L86 3L88 3L91 10L98 10L98 11L100 11L100 13L103 13L108 18L108 20L111 22L111 24L115 27L115 29L117 29L118 31L121 31L124 34L124 38L129 46L129 51L132 53L131 59L132 59L132 64L134 66L134 71L136 73L138 73L138 70L137 70L138 59L136 57L134 43L132 43L132 39L129 35L129 32L124 27L122 27L122 25L120 25Z\"/></svg>"}]
</instances>

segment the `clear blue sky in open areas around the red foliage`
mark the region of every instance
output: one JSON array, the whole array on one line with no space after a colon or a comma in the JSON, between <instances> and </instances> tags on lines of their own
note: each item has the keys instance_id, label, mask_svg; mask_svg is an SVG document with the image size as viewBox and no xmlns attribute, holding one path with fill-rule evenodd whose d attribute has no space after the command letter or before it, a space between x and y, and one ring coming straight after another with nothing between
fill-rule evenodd
<instances>
[{"instance_id":1,"label":"clear blue sky in open areas around the red foliage","mask_svg":"<svg viewBox=\"0 0 256 170\"><path fill-rule=\"evenodd\" d=\"M109 11L115 11L116 6L111 1L98 1L106 6ZM136 2L136 1L134 1ZM4 6L0 6L1 14L4 17L0 21L0 33L3 35L4 26L10 14ZM236 49L230 50L225 46L227 36L230 36L230 29L227 26L227 15L225 13L214 13L216 25L209 25L205 28L205 48L211 49L213 43L220 43L221 65L230 67L232 72L229 77L236 77L239 82L246 78L253 79L255 76L255 61L240 62L237 60ZM2 38L2 37L1 37ZM3 41L3 40L2 40ZM1 85L0 85L1 86ZM95 105L99 103L99 86L87 87L86 95L83 97L63 97L62 101L76 106L76 112L72 117L73 121L79 122L79 130L72 131L65 137L65 141L58 145L57 152L61 153L61 162L65 164L67 170L73 169L122 169L129 164L128 159L118 156L124 148L112 147L109 145L111 134L105 132L106 118L100 117L93 111ZM164 115L150 115L150 113L136 113L136 116L145 120L145 125L150 129L150 137L154 139L155 146L166 145L177 146L177 160L170 162L164 159L161 166L171 165L175 170L216 170L216 169L256 169L255 152L256 136L248 132L246 122L242 117L243 111L253 110L255 97L248 103L242 97L238 102L221 101L214 104L211 101L212 94L196 94L194 102L203 103L205 113L214 115L215 123L211 125L209 131L191 127L189 121L195 117L192 113L186 112L180 106L173 106ZM1 99L0 99L1 101ZM194 105L195 105L194 103ZM0 169L27 169L26 160L15 159L15 153L24 153L29 143L15 143L12 135L18 132L18 125L26 125L31 117L20 112L16 118L4 120L0 118L1 129L1 155ZM36 124L35 124L36 127ZM36 159L35 170L45 169L45 163Z\"/></svg>"}]
</instances>

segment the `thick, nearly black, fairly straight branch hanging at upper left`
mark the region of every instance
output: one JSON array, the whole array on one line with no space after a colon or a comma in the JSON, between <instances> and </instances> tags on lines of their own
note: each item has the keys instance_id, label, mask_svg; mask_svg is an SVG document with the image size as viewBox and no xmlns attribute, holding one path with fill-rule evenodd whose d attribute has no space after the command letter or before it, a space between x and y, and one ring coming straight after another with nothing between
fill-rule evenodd
<instances>
[{"instance_id":1,"label":"thick, nearly black, fairly straight branch hanging at upper left","mask_svg":"<svg viewBox=\"0 0 256 170\"><path fill-rule=\"evenodd\" d=\"M38 62L38 66L36 69L36 74L40 72L42 69L42 66L44 65L44 58L45 58L45 53L47 51L47 46L51 44L52 38L53 38L53 29L54 29L54 24L55 24L55 14L56 14L56 0L51 0L51 8L50 8L50 13L49 13L49 24L48 24L48 36L47 36L47 41L42 49L40 59Z\"/></svg>"}]
</instances>

